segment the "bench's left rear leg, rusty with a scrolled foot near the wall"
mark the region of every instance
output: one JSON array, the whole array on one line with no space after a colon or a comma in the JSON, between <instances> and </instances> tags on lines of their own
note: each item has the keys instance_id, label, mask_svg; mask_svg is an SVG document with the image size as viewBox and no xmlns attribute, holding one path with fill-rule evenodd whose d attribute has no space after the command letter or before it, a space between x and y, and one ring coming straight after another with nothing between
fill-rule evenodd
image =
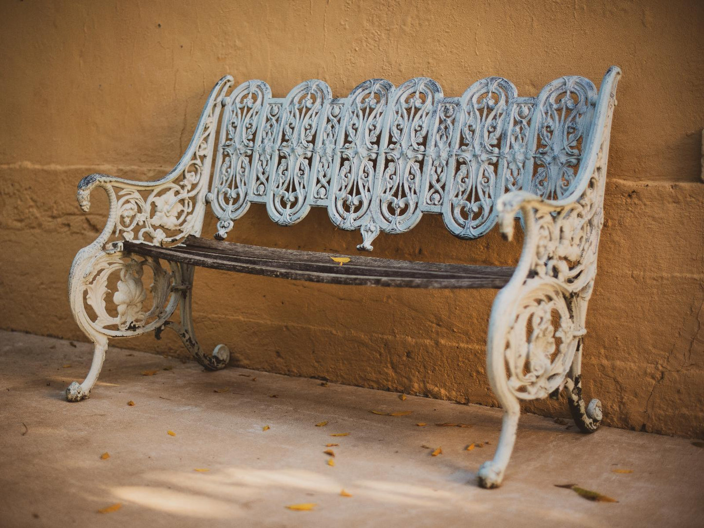
<instances>
[{"instance_id":1,"label":"bench's left rear leg, rusty with a scrolled foot near the wall","mask_svg":"<svg viewBox=\"0 0 704 528\"><path fill-rule=\"evenodd\" d=\"M163 325L158 327L154 332L156 339L160 339L163 329L170 328L179 335L184 346L193 354L196 361L207 370L220 370L225 368L230 361L230 349L227 348L227 346L224 344L215 346L213 353L208 356L208 354L203 352L203 349L196 340L196 333L193 327L193 310L191 308L195 268L192 265L182 263L178 263L177 266L180 268L182 278L181 298L179 302L181 322L164 322Z\"/></svg>"}]
</instances>

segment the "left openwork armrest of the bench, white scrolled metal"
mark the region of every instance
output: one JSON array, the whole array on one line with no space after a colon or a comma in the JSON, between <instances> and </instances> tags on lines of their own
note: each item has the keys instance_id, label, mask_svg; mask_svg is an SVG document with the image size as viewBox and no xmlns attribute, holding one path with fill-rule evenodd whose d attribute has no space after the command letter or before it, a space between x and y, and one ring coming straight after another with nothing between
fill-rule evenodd
<instances>
[{"instance_id":1,"label":"left openwork armrest of the bench, white scrolled metal","mask_svg":"<svg viewBox=\"0 0 704 528\"><path fill-rule=\"evenodd\" d=\"M190 234L200 234L215 128L230 86L229 75L215 84L189 146L164 177L138 182L95 173L79 182L77 199L82 210L89 210L90 194L96 187L106 191L110 203L106 226L92 245L104 246L112 234L156 246L179 244Z\"/></svg>"}]
</instances>

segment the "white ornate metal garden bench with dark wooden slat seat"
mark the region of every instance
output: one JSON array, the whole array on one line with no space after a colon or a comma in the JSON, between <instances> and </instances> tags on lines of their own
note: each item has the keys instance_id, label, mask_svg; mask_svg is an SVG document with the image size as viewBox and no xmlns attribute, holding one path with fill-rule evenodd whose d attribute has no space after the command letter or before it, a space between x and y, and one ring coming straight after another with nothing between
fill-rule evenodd
<instances>
[{"instance_id":1,"label":"white ornate metal garden bench with dark wooden slat seat","mask_svg":"<svg viewBox=\"0 0 704 528\"><path fill-rule=\"evenodd\" d=\"M223 77L186 153L161 180L92 174L78 184L84 211L101 187L110 213L70 272L73 315L95 351L86 379L66 397L88 397L113 337L172 328L204 367L225 367L227 347L208 355L194 336L191 284L194 267L205 266L358 286L501 289L486 357L504 417L494 460L479 469L482 486L501 484L520 400L557 398L565 388L579 428L596 430L601 404L582 399L582 337L619 77L610 68L599 92L584 77L560 77L537 97L518 96L501 77L479 80L461 97L444 96L426 77L399 87L372 79L341 99L320 80L282 99L265 82L232 89L232 77ZM523 249L515 268L365 256L339 265L331 258L339 255L225 242L251 203L265 204L279 225L325 207L336 227L360 230L362 251L372 251L380 232L410 230L424 213L442 215L461 239L497 223L510 239L520 218ZM201 237L208 204L218 218L215 239ZM177 308L180 322L171 320Z\"/></svg>"}]
</instances>

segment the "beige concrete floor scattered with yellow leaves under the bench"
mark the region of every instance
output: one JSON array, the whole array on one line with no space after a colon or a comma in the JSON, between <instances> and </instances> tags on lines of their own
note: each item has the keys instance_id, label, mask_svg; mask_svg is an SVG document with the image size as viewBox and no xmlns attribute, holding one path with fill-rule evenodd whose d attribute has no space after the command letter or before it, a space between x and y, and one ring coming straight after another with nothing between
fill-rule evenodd
<instances>
[{"instance_id":1,"label":"beige concrete floor scattered with yellow leaves under the bench","mask_svg":"<svg viewBox=\"0 0 704 528\"><path fill-rule=\"evenodd\" d=\"M91 354L87 344L0 332L1 526L704 524L704 449L687 439L608 428L587 436L524 415L505 484L484 490L475 472L494 453L501 410L232 367L205 372L120 348L108 351L91 398L67 403L63 389L82 380ZM142 375L149 370L156 375ZM472 442L489 445L466 451ZM328 443L339 444L334 467ZM555 487L565 483L619 502ZM317 505L285 508L296 503Z\"/></svg>"}]
</instances>

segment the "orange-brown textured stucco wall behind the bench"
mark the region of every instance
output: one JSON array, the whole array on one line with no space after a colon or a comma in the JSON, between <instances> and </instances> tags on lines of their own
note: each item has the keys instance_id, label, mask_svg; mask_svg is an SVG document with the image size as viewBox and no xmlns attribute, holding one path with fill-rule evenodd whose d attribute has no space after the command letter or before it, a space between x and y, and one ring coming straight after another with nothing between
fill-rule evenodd
<instances>
[{"instance_id":1,"label":"orange-brown textured stucco wall behind the bench","mask_svg":"<svg viewBox=\"0 0 704 528\"><path fill-rule=\"evenodd\" d=\"M282 96L301 80L334 94L416 75L459 95L503 75L534 95L620 65L606 218L588 315L584 382L609 425L704 435L704 4L674 1L49 2L0 6L0 327L84 339L65 282L105 218L75 185L97 170L163 175L224 73ZM204 233L214 232L208 218ZM294 227L253 206L234 241L353 251L323 210ZM512 263L520 240L451 237L434 215L382 235L377 256ZM246 367L494 405L484 344L494 291L410 291L196 272L201 343ZM184 353L173 337L120 341ZM109 358L108 358L109 362ZM109 367L109 363L108 363ZM526 406L566 415L565 403Z\"/></svg>"}]
</instances>

